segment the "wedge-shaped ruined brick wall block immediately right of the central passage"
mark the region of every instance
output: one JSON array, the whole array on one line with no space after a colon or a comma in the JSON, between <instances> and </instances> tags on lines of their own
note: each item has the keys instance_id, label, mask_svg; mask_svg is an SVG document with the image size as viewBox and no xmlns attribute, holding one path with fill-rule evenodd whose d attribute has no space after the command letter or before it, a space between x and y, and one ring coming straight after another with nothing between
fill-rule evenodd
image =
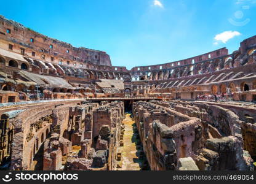
<instances>
[{"instance_id":1,"label":"wedge-shaped ruined brick wall block immediately right of the central passage","mask_svg":"<svg viewBox=\"0 0 256 184\"><path fill-rule=\"evenodd\" d=\"M195 158L201 150L199 118L151 102L135 102L133 113L152 170L175 170L178 158Z\"/></svg>"}]
</instances>

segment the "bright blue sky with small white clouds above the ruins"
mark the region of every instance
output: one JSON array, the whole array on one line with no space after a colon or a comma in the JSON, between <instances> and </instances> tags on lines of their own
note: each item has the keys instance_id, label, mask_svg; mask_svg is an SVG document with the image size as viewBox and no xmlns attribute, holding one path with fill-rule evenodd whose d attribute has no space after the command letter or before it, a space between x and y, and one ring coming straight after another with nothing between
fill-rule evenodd
<instances>
[{"instance_id":1,"label":"bright blue sky with small white clouds above the ruins","mask_svg":"<svg viewBox=\"0 0 256 184\"><path fill-rule=\"evenodd\" d=\"M256 34L255 8L256 0L12 0L0 14L130 69L222 47L231 53Z\"/></svg>"}]
</instances>

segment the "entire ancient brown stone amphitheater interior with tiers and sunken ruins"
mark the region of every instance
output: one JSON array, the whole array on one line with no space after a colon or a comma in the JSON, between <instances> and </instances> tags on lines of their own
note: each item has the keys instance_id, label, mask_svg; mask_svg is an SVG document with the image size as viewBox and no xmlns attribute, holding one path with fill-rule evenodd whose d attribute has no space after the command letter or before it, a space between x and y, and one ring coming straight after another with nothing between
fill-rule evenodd
<instances>
[{"instance_id":1,"label":"entire ancient brown stone amphitheater interior with tiers and sunken ruins","mask_svg":"<svg viewBox=\"0 0 256 184\"><path fill-rule=\"evenodd\" d=\"M255 101L256 36L127 70L0 17L0 170L253 170Z\"/></svg>"}]
</instances>

